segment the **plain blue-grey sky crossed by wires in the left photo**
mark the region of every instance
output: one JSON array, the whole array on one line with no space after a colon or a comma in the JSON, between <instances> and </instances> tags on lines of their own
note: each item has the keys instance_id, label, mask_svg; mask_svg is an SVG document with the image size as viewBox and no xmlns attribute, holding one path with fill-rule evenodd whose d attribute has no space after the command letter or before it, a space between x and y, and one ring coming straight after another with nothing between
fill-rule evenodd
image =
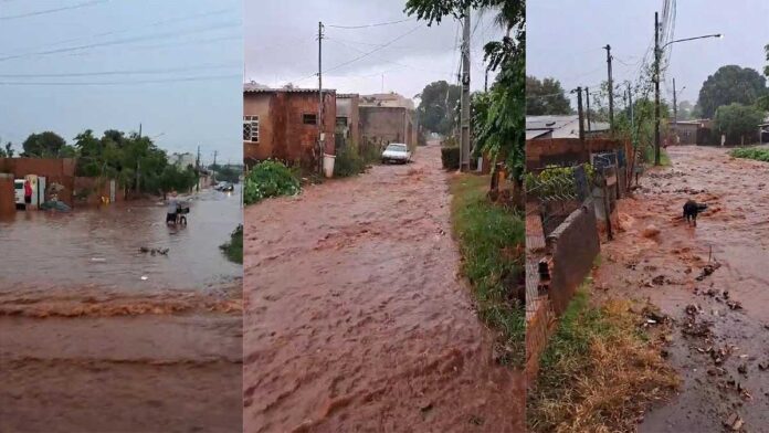
<instances>
[{"instance_id":1,"label":"plain blue-grey sky crossed by wires in the left photo","mask_svg":"<svg viewBox=\"0 0 769 433\"><path fill-rule=\"evenodd\" d=\"M0 138L138 130L242 161L242 0L0 0ZM162 135L161 135L162 134Z\"/></svg>"}]
</instances>

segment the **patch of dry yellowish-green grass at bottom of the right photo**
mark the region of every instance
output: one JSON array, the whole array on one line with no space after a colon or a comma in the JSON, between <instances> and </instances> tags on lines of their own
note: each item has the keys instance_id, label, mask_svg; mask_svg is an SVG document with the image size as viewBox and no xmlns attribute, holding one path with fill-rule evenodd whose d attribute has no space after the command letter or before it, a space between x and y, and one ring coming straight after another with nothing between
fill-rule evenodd
<instances>
[{"instance_id":1,"label":"patch of dry yellowish-green grass at bottom of the right photo","mask_svg":"<svg viewBox=\"0 0 769 433\"><path fill-rule=\"evenodd\" d=\"M634 432L652 402L678 386L661 356L661 338L640 325L628 300L575 295L550 338L527 398L531 432Z\"/></svg>"}]
</instances>

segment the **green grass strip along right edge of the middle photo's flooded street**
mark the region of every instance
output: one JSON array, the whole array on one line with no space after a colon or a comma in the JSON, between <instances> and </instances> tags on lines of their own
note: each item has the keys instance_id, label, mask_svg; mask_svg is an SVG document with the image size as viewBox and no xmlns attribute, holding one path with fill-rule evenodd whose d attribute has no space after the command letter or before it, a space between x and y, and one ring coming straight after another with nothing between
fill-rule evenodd
<instances>
[{"instance_id":1,"label":"green grass strip along right edge of the middle photo's flooded street","mask_svg":"<svg viewBox=\"0 0 769 433\"><path fill-rule=\"evenodd\" d=\"M524 220L488 200L488 176L451 179L452 226L481 319L497 331L499 361L522 367L526 358L524 305L515 296L524 278Z\"/></svg>"}]
</instances>

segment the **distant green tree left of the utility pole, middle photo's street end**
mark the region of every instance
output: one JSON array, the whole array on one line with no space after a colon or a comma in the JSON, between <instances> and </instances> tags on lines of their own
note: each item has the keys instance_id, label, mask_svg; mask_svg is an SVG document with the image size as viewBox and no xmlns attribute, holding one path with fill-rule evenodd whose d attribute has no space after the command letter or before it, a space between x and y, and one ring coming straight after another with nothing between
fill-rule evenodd
<instances>
[{"instance_id":1,"label":"distant green tree left of the utility pole, middle photo's street end","mask_svg":"<svg viewBox=\"0 0 769 433\"><path fill-rule=\"evenodd\" d=\"M424 86L417 107L419 124L431 133L451 134L455 125L454 112L460 104L462 87L438 81Z\"/></svg>"}]
</instances>

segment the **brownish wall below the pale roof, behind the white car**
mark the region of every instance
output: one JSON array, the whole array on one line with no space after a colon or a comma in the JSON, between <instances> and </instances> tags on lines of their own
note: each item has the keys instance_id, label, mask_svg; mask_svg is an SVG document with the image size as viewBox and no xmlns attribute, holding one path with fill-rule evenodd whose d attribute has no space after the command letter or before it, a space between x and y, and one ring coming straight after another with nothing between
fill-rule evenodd
<instances>
[{"instance_id":1,"label":"brownish wall below the pale roof, behind the white car","mask_svg":"<svg viewBox=\"0 0 769 433\"><path fill-rule=\"evenodd\" d=\"M360 106L360 135L373 142L405 142L417 146L413 112L405 107Z\"/></svg>"}]
</instances>

